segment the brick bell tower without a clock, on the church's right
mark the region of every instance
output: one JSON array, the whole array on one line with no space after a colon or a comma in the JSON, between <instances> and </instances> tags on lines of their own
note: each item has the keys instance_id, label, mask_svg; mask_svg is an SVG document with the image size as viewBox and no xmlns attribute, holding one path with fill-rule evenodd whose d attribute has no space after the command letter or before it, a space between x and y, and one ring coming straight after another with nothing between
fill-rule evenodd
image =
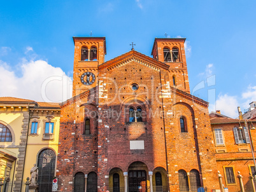
<instances>
[{"instance_id":1,"label":"brick bell tower without a clock, on the church's right","mask_svg":"<svg viewBox=\"0 0 256 192\"><path fill-rule=\"evenodd\" d=\"M190 93L184 48L185 40L186 38L155 38L151 55L160 62L169 65L171 86Z\"/></svg>"}]
</instances>

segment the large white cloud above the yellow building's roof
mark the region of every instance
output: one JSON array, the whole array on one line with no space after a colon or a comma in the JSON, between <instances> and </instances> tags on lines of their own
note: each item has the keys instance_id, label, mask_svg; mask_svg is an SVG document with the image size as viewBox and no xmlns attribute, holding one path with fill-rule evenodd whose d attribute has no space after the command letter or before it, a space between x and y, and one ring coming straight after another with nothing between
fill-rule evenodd
<instances>
[{"instance_id":1,"label":"large white cloud above the yellow building's roof","mask_svg":"<svg viewBox=\"0 0 256 192\"><path fill-rule=\"evenodd\" d=\"M44 60L26 60L16 66L0 60L0 97L20 97L45 102L62 102L72 96L72 81L59 67Z\"/></svg>"}]
</instances>

